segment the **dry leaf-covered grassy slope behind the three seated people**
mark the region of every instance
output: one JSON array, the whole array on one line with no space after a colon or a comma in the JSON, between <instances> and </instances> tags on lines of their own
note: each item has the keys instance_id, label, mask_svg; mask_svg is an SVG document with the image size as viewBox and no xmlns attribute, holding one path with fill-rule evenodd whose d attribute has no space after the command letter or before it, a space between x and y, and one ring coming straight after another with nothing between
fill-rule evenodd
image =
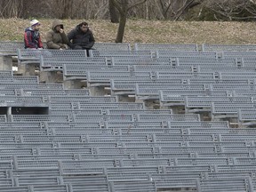
<instances>
[{"instance_id":1,"label":"dry leaf-covered grassy slope behind the three seated people","mask_svg":"<svg viewBox=\"0 0 256 192\"><path fill-rule=\"evenodd\" d=\"M51 28L52 20L42 22L41 34ZM63 20L68 32L82 20ZM117 24L108 20L87 20L97 42L115 42ZM21 41L29 20L0 20L0 40ZM204 22L204 21L152 21L128 20L124 43L158 44L256 44L253 22Z\"/></svg>"}]
</instances>

